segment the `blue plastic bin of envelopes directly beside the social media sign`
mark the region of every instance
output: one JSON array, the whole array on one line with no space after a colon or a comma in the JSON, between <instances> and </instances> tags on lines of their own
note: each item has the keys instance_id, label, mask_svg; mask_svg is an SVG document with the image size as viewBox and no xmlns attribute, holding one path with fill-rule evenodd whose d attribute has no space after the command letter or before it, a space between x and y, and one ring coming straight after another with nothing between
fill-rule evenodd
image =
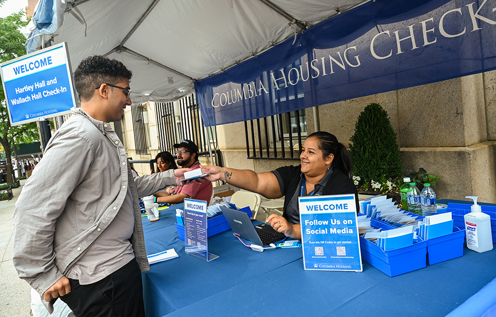
<instances>
[{"instance_id":1,"label":"blue plastic bin of envelopes directly beside the social media sign","mask_svg":"<svg viewBox=\"0 0 496 317\"><path fill-rule=\"evenodd\" d=\"M384 230L396 229L377 219L371 218L372 226ZM375 243L360 237L362 259L389 277L401 275L427 266L427 241L418 240L411 246L383 251Z\"/></svg>"}]
</instances>

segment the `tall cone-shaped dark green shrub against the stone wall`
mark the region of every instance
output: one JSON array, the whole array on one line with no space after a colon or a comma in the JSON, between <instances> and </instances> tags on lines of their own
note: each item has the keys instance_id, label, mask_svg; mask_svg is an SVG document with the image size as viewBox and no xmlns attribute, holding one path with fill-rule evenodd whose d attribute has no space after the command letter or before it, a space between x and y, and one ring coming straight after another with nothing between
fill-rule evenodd
<instances>
[{"instance_id":1,"label":"tall cone-shaped dark green shrub against the stone wall","mask_svg":"<svg viewBox=\"0 0 496 317\"><path fill-rule=\"evenodd\" d=\"M350 144L353 174L361 177L361 185L401 176L403 166L396 133L387 112L380 105L365 107L350 141L353 142Z\"/></svg>"}]
</instances>

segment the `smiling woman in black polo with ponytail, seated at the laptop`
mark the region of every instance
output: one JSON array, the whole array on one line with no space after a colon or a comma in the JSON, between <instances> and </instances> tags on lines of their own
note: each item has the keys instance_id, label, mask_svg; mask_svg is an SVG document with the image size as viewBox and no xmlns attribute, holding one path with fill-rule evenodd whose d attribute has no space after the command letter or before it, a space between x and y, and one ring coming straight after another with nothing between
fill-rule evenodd
<instances>
[{"instance_id":1,"label":"smiling woman in black polo with ponytail, seated at the laptop","mask_svg":"<svg viewBox=\"0 0 496 317\"><path fill-rule=\"evenodd\" d=\"M358 192L351 180L352 163L348 150L328 132L315 132L305 140L300 155L301 165L283 166L271 172L203 166L206 180L225 180L236 187L274 199L285 196L282 216L271 214L267 222L288 237L302 238L298 197Z\"/></svg>"}]
</instances>

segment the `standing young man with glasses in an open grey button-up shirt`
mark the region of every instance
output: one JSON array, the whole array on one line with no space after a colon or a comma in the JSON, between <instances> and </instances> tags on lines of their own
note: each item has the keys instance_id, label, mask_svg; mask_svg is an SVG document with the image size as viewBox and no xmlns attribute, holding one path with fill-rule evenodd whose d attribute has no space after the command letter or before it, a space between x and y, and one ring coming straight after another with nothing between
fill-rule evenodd
<instances>
[{"instance_id":1,"label":"standing young man with glasses in an open grey button-up shirt","mask_svg":"<svg viewBox=\"0 0 496 317\"><path fill-rule=\"evenodd\" d=\"M50 313L60 297L78 317L144 317L140 270L150 268L138 196L177 184L187 169L133 179L110 125L131 105L131 76L118 60L81 61L81 107L71 109L17 200L13 264Z\"/></svg>"}]
</instances>

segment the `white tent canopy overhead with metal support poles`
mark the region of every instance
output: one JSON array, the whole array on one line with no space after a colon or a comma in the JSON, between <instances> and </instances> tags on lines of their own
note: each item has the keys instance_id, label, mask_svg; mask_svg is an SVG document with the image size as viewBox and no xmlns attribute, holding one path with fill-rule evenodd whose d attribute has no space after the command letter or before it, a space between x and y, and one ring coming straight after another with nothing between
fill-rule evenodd
<instances>
[{"instance_id":1,"label":"white tent canopy overhead with metal support poles","mask_svg":"<svg viewBox=\"0 0 496 317\"><path fill-rule=\"evenodd\" d=\"M47 33L54 43L67 42L72 68L93 54L121 60L133 72L132 101L140 103L177 100L193 91L194 80L368 0L54 2L60 12Z\"/></svg>"}]
</instances>

